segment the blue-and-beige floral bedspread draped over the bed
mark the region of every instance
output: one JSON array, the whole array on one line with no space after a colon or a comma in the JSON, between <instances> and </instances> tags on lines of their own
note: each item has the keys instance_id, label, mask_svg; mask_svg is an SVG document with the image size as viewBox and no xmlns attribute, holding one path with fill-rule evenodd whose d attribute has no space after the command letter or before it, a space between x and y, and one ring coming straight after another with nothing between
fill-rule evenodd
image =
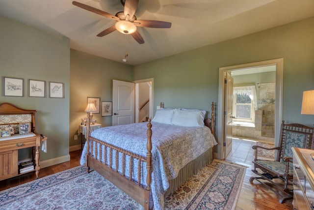
<instances>
[{"instance_id":1,"label":"blue-and-beige floral bedspread draped over the bed","mask_svg":"<svg viewBox=\"0 0 314 210\"><path fill-rule=\"evenodd\" d=\"M141 122L108 126L93 131L91 136L146 157L146 125L146 122ZM155 210L162 210L164 209L164 192L169 187L168 180L175 179L184 165L194 160L198 155L204 153L217 143L210 129L206 126L184 127L154 122L152 132L151 188L154 208ZM81 165L86 162L86 146L87 144L85 144L81 155ZM99 153L96 158L100 159ZM102 161L104 161L104 157L102 157ZM129 160L126 160L126 162L128 161ZM113 160L112 162L113 168L115 168L115 161ZM134 166L136 166L136 164L134 164ZM119 165L119 171L120 167ZM143 165L142 168L145 170L143 170L141 176L141 183L146 183L146 164ZM134 170L132 177L137 181L137 167L134 167ZM126 175L128 173L129 170L126 169Z\"/></svg>"}]
</instances>

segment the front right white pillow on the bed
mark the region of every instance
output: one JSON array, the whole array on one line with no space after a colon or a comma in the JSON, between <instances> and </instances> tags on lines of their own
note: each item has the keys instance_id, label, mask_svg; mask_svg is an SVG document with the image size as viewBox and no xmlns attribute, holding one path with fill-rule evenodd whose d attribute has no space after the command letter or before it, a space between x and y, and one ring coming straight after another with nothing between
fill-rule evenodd
<instances>
[{"instance_id":1,"label":"front right white pillow on the bed","mask_svg":"<svg viewBox=\"0 0 314 210\"><path fill-rule=\"evenodd\" d=\"M194 126L204 126L204 113L200 110L179 110L174 111L172 117L172 124L194 127Z\"/></svg>"}]
</instances>

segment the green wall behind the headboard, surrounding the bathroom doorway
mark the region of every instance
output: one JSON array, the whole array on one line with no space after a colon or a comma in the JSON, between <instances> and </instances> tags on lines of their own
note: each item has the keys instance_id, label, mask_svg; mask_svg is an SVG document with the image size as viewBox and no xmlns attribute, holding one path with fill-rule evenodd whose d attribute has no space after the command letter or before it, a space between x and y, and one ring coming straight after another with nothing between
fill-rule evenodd
<instances>
[{"instance_id":1,"label":"green wall behind the headboard, surrounding the bathroom doorway","mask_svg":"<svg viewBox=\"0 0 314 210\"><path fill-rule=\"evenodd\" d=\"M134 67L134 79L154 78L154 107L209 110L219 67L283 58L283 120L313 126L313 115L300 114L303 91L314 90L313 26L314 17L147 62Z\"/></svg>"}]
</instances>

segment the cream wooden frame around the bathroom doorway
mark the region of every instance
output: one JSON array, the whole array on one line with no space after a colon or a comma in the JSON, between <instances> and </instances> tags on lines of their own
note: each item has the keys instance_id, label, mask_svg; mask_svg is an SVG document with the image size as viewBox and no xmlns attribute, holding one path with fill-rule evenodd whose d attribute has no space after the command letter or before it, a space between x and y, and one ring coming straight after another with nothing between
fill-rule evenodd
<instances>
[{"instance_id":1,"label":"cream wooden frame around the bathroom doorway","mask_svg":"<svg viewBox=\"0 0 314 210\"><path fill-rule=\"evenodd\" d=\"M234 66L227 66L219 68L219 90L218 90L218 115L217 115L217 138L218 138L218 146L215 152L215 156L218 159L226 158L226 139L230 139L230 132L226 133L226 125L225 125L225 77L224 75L227 72L232 72L239 69L249 69L254 67L261 66L276 66L276 103L275 103L275 137L280 133L280 124L282 121L282 96L283 96L283 59L274 59L274 60L265 60L253 63L245 63ZM275 145L278 144L278 138L275 138ZM232 144L231 144L232 145Z\"/></svg>"}]
</instances>

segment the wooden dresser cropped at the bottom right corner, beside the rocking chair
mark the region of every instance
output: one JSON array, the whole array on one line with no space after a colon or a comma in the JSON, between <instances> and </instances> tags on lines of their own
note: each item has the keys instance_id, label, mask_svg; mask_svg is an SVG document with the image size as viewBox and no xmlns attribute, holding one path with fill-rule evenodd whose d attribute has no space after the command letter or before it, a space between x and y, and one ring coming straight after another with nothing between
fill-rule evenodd
<instances>
[{"instance_id":1,"label":"wooden dresser cropped at the bottom right corner, beside the rocking chair","mask_svg":"<svg viewBox=\"0 0 314 210\"><path fill-rule=\"evenodd\" d=\"M293 151L293 209L314 209L314 150L292 148Z\"/></svg>"}]
</instances>

